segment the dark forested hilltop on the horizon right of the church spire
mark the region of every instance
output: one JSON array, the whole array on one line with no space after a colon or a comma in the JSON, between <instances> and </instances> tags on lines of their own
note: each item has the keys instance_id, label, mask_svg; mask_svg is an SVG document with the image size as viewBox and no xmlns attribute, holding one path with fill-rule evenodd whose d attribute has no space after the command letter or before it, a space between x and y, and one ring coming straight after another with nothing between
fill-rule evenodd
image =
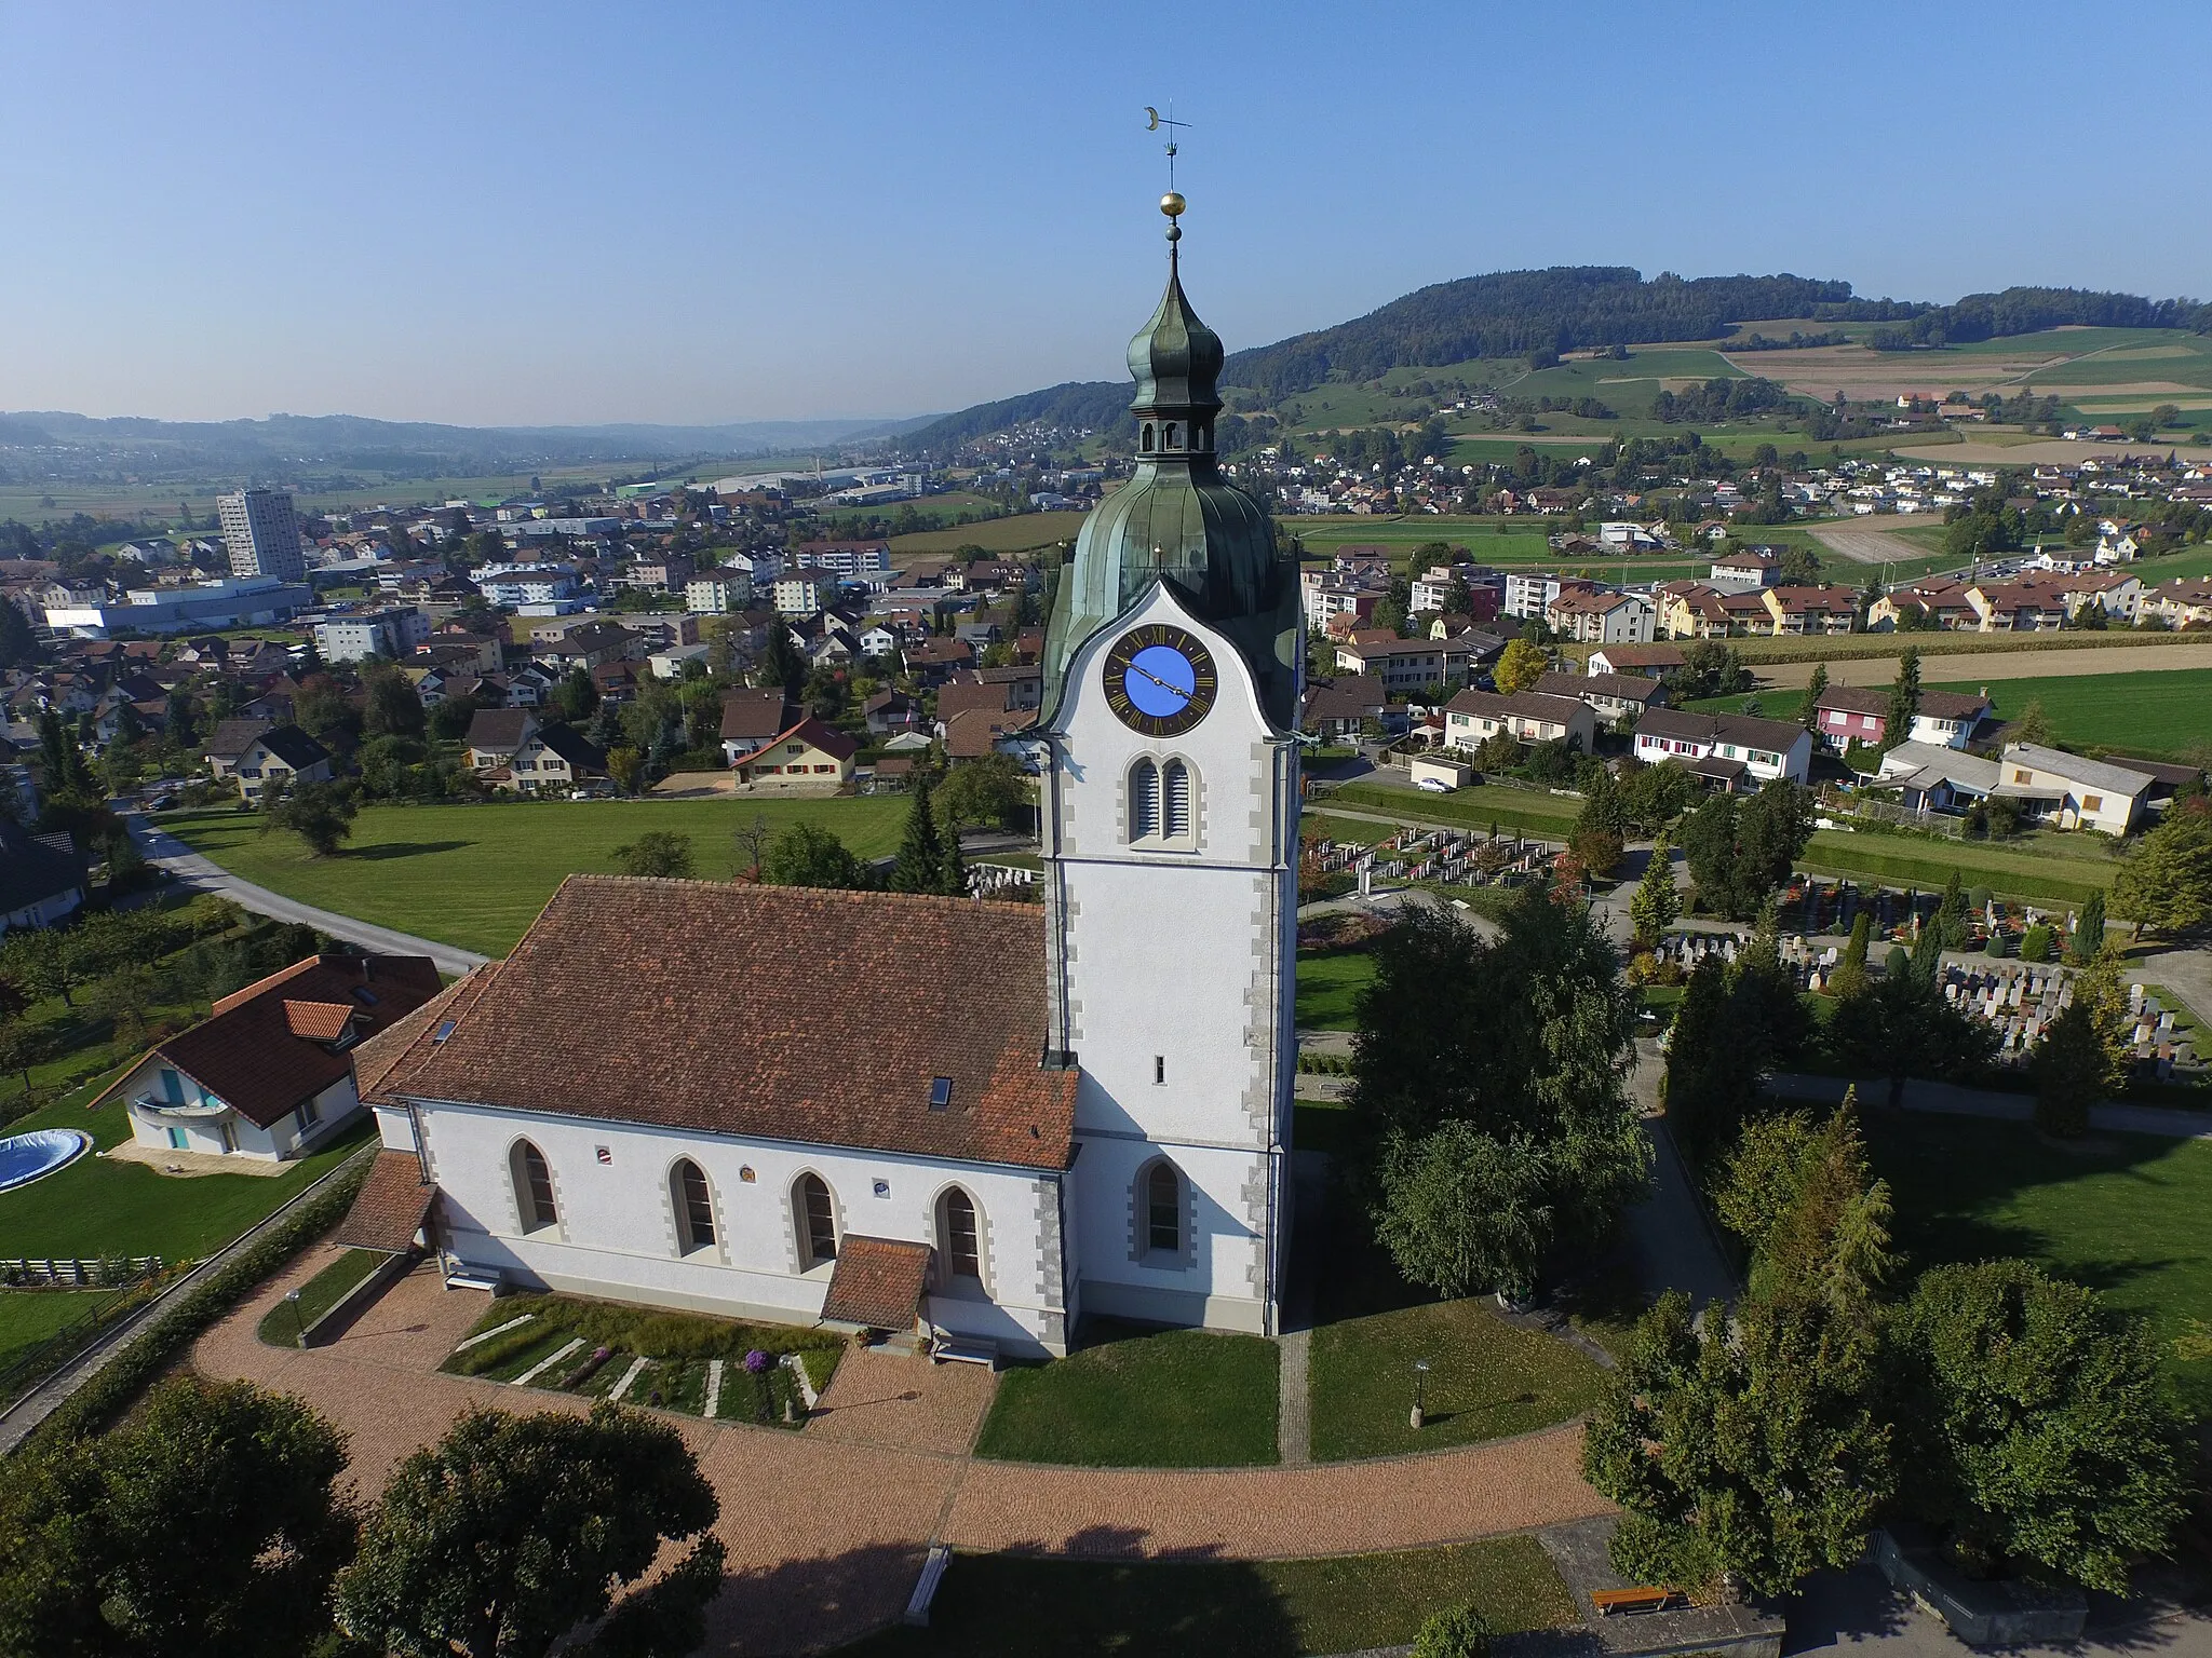
<instances>
[{"instance_id":1,"label":"dark forested hilltop on the horizon right of the church spire","mask_svg":"<svg viewBox=\"0 0 2212 1658\"><path fill-rule=\"evenodd\" d=\"M1586 345L1710 340L1765 316L1832 316L1851 305L1849 283L1809 276L1644 276L1628 265L1553 265L1462 276L1394 298L1378 312L1279 345L1237 351L1221 378L1272 398L1332 376L1371 380L1385 369L1436 367L1478 356L1571 351ZM1920 305L1893 305L1909 318Z\"/></svg>"}]
</instances>

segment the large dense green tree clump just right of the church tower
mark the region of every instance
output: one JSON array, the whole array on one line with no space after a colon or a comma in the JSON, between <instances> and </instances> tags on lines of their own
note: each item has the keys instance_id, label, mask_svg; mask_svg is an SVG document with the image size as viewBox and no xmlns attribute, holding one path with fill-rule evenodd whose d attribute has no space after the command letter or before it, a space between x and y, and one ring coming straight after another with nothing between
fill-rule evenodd
<instances>
[{"instance_id":1,"label":"large dense green tree clump just right of the church tower","mask_svg":"<svg viewBox=\"0 0 2212 1658\"><path fill-rule=\"evenodd\" d=\"M1515 895L1495 940L1405 911L1374 957L1347 1103L1376 1236L1447 1295L1526 1289L1644 1189L1635 993L1588 911L1544 886Z\"/></svg>"}]
</instances>

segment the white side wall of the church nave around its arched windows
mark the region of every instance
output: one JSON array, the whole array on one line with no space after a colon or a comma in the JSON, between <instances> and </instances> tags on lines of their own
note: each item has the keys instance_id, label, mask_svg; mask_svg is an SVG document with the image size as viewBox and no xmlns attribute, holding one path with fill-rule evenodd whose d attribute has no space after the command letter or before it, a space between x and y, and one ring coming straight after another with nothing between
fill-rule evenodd
<instances>
[{"instance_id":1,"label":"white side wall of the church nave around its arched windows","mask_svg":"<svg viewBox=\"0 0 2212 1658\"><path fill-rule=\"evenodd\" d=\"M469 1105L422 1105L420 1123L445 1194L442 1242L460 1260L549 1289L726 1318L821 1315L832 1265L801 1262L803 1174L830 1187L841 1240L936 1245L936 1200L960 1185L978 1207L987 1298L933 1293L931 1318L1009 1349L1066 1349L1053 1176ZM553 1174L557 1222L533 1231L509 1161L520 1138ZM714 1242L690 1253L677 1242L670 1180L686 1156L714 1203Z\"/></svg>"}]
</instances>

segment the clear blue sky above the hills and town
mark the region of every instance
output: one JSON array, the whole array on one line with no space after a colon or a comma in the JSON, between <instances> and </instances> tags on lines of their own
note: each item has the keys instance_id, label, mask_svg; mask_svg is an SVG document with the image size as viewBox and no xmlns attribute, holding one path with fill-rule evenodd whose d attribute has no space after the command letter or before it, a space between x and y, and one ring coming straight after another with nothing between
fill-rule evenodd
<instances>
[{"instance_id":1,"label":"clear blue sky above the hills and town","mask_svg":"<svg viewBox=\"0 0 2212 1658\"><path fill-rule=\"evenodd\" d=\"M2212 290L2212 7L0 0L0 409L907 416L1486 270Z\"/></svg>"}]
</instances>

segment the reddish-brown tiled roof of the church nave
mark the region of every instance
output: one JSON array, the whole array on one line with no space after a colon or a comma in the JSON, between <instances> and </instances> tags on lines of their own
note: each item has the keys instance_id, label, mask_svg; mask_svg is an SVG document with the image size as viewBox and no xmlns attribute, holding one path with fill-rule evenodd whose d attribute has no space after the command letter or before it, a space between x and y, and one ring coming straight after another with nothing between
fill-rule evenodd
<instances>
[{"instance_id":1,"label":"reddish-brown tiled roof of the church nave","mask_svg":"<svg viewBox=\"0 0 2212 1658\"><path fill-rule=\"evenodd\" d=\"M1075 1072L1042 1063L1035 904L571 875L478 977L447 1041L418 1039L378 1094L1068 1163Z\"/></svg>"}]
</instances>

